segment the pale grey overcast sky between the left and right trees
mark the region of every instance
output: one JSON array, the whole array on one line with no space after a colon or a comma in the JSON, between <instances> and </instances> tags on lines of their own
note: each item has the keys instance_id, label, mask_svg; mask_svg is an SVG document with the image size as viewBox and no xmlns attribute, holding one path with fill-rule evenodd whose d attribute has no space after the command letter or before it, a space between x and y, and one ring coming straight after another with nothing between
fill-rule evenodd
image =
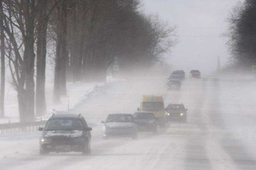
<instances>
[{"instance_id":1,"label":"pale grey overcast sky between the left and right trees","mask_svg":"<svg viewBox=\"0 0 256 170\"><path fill-rule=\"evenodd\" d=\"M217 56L221 66L230 56L227 39L221 36L227 29L226 18L241 0L142 0L143 11L158 14L176 25L178 44L168 61L174 69L200 69L208 74L216 70Z\"/></svg>"}]
</instances>

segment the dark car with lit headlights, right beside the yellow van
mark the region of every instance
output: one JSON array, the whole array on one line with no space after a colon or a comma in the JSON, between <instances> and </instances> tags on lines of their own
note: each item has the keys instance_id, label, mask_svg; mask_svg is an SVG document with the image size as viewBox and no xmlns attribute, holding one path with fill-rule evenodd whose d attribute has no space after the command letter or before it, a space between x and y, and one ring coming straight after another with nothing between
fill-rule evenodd
<instances>
[{"instance_id":1,"label":"dark car with lit headlights, right beside the yellow van","mask_svg":"<svg viewBox=\"0 0 256 170\"><path fill-rule=\"evenodd\" d=\"M187 110L184 104L169 104L165 109L166 119L169 121L184 121L187 120Z\"/></svg>"}]
</instances>

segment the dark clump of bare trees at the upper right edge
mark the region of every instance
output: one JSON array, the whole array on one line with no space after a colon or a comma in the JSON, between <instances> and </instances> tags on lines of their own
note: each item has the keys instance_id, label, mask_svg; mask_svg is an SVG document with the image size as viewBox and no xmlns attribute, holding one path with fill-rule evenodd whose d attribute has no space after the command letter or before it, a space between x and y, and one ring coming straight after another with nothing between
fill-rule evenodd
<instances>
[{"instance_id":1,"label":"dark clump of bare trees at the upper right edge","mask_svg":"<svg viewBox=\"0 0 256 170\"><path fill-rule=\"evenodd\" d=\"M239 3L228 18L229 49L236 66L251 68L256 63L256 1Z\"/></svg>"}]
</instances>

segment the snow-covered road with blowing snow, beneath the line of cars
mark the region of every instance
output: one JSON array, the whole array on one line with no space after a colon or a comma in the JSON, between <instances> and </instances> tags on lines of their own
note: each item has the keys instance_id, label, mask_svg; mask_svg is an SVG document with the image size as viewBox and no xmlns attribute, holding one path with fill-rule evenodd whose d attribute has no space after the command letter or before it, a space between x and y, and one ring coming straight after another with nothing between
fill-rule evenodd
<instances>
[{"instance_id":1,"label":"snow-covered road with blowing snow, beneath the line of cars","mask_svg":"<svg viewBox=\"0 0 256 170\"><path fill-rule=\"evenodd\" d=\"M85 100L81 112L92 126L92 155L40 156L40 133L0 136L1 170L255 170L256 82L250 79L185 80L166 90L164 78L129 78L102 87ZM101 120L109 113L133 113L142 95L162 95L165 103L184 103L188 123L170 123L159 134L138 140L102 140Z\"/></svg>"}]
</instances>

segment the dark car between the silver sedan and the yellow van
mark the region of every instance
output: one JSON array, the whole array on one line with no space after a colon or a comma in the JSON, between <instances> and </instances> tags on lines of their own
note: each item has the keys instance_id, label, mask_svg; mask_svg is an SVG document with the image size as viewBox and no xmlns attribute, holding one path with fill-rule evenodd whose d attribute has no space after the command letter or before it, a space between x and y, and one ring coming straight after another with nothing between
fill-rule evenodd
<instances>
[{"instance_id":1,"label":"dark car between the silver sedan and the yellow van","mask_svg":"<svg viewBox=\"0 0 256 170\"><path fill-rule=\"evenodd\" d=\"M158 130L158 119L154 113L136 112L133 114L134 120L137 123L138 131L152 131L154 134Z\"/></svg>"}]
</instances>

